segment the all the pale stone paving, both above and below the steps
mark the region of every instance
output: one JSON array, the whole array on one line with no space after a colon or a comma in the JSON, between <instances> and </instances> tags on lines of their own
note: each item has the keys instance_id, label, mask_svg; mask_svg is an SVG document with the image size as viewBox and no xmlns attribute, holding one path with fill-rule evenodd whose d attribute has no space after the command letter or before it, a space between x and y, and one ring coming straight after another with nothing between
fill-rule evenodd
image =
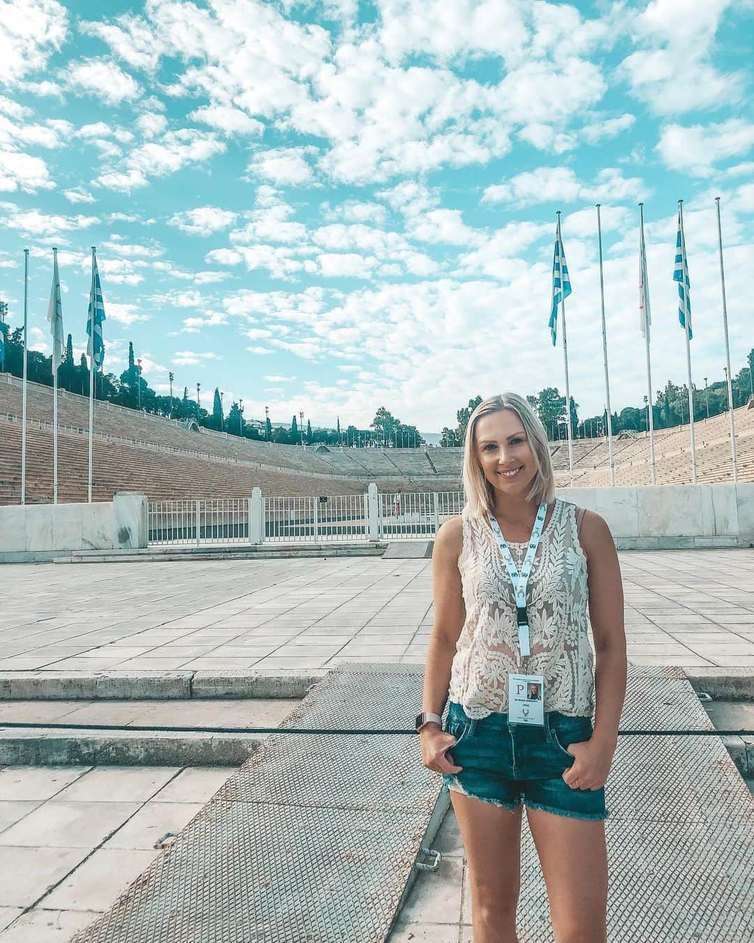
<instances>
[{"instance_id":1,"label":"all the pale stone paving, both above and below the steps","mask_svg":"<svg viewBox=\"0 0 754 943\"><path fill-rule=\"evenodd\" d=\"M754 667L754 554L633 552L620 560L633 663ZM433 620L429 560L6 565L2 575L12 592L0 612L0 670L423 663ZM205 725L206 702L186 707ZM154 723L174 709L8 703L0 720L20 720L21 710L29 720L86 722L93 711L97 722ZM231 726L245 710L210 709ZM0 943L68 940L159 853L156 838L183 827L232 771L0 769ZM418 876L390 943L471 943L467 862L452 809L434 847L442 865Z\"/></svg>"}]
</instances>

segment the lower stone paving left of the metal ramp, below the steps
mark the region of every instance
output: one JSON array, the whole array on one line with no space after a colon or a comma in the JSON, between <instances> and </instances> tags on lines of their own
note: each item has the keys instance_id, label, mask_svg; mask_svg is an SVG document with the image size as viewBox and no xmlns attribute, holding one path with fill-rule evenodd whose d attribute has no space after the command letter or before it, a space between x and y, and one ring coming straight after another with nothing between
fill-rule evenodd
<instances>
[{"instance_id":1,"label":"lower stone paving left of the metal ramp, below the steps","mask_svg":"<svg viewBox=\"0 0 754 943\"><path fill-rule=\"evenodd\" d=\"M235 769L0 769L0 940L65 943Z\"/></svg>"}]
</instances>

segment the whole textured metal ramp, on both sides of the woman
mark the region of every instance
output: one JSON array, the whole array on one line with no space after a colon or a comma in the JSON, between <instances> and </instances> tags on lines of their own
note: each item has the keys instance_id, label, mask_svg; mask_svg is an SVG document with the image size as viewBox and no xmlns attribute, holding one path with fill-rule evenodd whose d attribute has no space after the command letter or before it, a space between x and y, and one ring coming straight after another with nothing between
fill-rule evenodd
<instances>
[{"instance_id":1,"label":"whole textured metal ramp, on both sides of the woman","mask_svg":"<svg viewBox=\"0 0 754 943\"><path fill-rule=\"evenodd\" d=\"M284 726L405 728L422 683L340 666ZM682 670L633 665L621 726L712 729ZM412 735L270 736L74 943L384 943L440 783ZM754 939L754 799L717 737L621 737L606 795L611 941ZM552 943L526 817L521 883L521 943Z\"/></svg>"}]
</instances>

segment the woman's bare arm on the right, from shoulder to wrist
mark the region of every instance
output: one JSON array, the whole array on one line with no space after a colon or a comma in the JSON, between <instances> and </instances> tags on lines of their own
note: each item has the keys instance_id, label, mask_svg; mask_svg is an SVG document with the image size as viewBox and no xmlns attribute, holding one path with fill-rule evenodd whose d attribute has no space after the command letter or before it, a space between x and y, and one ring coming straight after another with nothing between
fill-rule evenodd
<instances>
[{"instance_id":1,"label":"woman's bare arm on the right, from shoulder to wrist","mask_svg":"<svg viewBox=\"0 0 754 943\"><path fill-rule=\"evenodd\" d=\"M628 671L620 565L610 528L594 511L584 512L579 536L588 562L589 618L596 653L592 739L615 749Z\"/></svg>"}]
</instances>

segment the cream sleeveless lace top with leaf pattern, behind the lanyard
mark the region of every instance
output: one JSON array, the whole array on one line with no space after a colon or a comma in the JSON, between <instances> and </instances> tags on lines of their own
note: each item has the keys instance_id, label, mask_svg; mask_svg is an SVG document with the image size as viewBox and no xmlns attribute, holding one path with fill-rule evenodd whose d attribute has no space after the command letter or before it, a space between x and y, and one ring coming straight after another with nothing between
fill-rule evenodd
<instances>
[{"instance_id":1,"label":"cream sleeveless lace top with leaf pattern, behind the lanyard","mask_svg":"<svg viewBox=\"0 0 754 943\"><path fill-rule=\"evenodd\" d=\"M516 594L489 521L461 514L458 557L466 620L455 647L449 699L469 718L508 711L508 673L542 674L546 711L594 713L594 658L587 636L586 556L576 506L555 499L526 590L531 654L522 656ZM529 541L508 542L518 571Z\"/></svg>"}]
</instances>

